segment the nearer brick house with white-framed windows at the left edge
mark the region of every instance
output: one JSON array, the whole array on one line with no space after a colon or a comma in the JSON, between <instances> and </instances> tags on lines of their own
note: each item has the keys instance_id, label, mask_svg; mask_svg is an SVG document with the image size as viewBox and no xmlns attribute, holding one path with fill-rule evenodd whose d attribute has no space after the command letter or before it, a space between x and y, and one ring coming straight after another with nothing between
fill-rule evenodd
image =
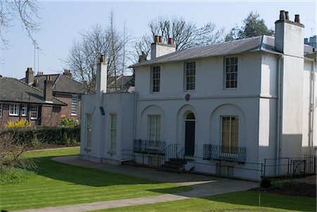
<instances>
[{"instance_id":1,"label":"nearer brick house with white-framed windows at the left edge","mask_svg":"<svg viewBox=\"0 0 317 212\"><path fill-rule=\"evenodd\" d=\"M50 76L44 80L44 91L20 80L0 76L0 128L8 120L27 120L32 125L60 125L61 108L67 104L52 96L52 86Z\"/></svg>"}]
</instances>

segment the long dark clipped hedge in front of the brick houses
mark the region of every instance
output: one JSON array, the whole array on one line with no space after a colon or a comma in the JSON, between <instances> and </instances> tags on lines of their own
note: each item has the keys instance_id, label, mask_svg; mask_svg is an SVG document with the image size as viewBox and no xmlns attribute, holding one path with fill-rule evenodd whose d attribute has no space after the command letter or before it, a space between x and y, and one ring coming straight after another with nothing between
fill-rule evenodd
<instances>
[{"instance_id":1,"label":"long dark clipped hedge in front of the brick houses","mask_svg":"<svg viewBox=\"0 0 317 212\"><path fill-rule=\"evenodd\" d=\"M21 127L2 130L0 135L12 135L17 144L79 144L80 127Z\"/></svg>"}]
</instances>

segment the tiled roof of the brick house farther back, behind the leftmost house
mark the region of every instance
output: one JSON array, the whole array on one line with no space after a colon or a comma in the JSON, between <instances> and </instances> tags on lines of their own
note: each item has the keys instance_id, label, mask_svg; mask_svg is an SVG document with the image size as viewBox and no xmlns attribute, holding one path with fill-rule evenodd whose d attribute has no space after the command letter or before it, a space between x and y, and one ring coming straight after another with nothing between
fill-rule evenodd
<instances>
[{"instance_id":1,"label":"tiled roof of the brick house farther back, behind the leftmost house","mask_svg":"<svg viewBox=\"0 0 317 212\"><path fill-rule=\"evenodd\" d=\"M39 89L44 90L44 80L47 75L35 75L34 79L39 80ZM53 82L53 92L70 93L70 94L85 94L85 85L80 82L73 80L72 78L62 75L55 74L50 75ZM25 82L25 78L21 79Z\"/></svg>"}]
</instances>

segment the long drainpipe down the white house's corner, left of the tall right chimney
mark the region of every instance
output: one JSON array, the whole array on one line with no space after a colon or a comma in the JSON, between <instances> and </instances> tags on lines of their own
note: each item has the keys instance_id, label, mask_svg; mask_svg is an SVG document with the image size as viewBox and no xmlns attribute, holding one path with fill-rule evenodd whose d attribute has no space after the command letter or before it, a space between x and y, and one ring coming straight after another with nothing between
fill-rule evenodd
<instances>
[{"instance_id":1,"label":"long drainpipe down the white house's corner, left of the tall right chimney","mask_svg":"<svg viewBox=\"0 0 317 212\"><path fill-rule=\"evenodd\" d=\"M275 174L280 173L280 151L282 139L282 106L283 106L283 55L278 57L278 125L277 125L277 144L276 144L276 164Z\"/></svg>"}]
</instances>

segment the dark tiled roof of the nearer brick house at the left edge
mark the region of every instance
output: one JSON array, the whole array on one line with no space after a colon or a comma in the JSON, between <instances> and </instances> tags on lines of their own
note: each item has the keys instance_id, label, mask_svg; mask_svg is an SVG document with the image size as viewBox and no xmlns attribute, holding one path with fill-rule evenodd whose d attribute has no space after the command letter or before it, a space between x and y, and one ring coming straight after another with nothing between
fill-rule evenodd
<instances>
[{"instance_id":1,"label":"dark tiled roof of the nearer brick house at the left edge","mask_svg":"<svg viewBox=\"0 0 317 212\"><path fill-rule=\"evenodd\" d=\"M0 77L0 101L31 104L53 104L58 106L67 105L55 97L52 98L53 103L47 103L44 100L44 92L42 90L11 77Z\"/></svg>"}]
</instances>

